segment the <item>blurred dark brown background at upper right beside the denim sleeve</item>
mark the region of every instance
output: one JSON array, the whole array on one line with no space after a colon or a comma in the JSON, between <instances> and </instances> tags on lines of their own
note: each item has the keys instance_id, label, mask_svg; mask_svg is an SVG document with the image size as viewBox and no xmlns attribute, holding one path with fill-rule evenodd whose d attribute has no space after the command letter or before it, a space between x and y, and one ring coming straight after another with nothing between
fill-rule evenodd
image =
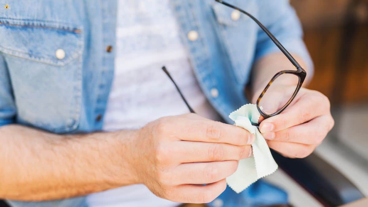
<instances>
[{"instance_id":1,"label":"blurred dark brown background at upper right beside the denim sleeve","mask_svg":"<svg viewBox=\"0 0 368 207\"><path fill-rule=\"evenodd\" d=\"M344 83L339 83L344 86L339 91L341 101L367 103L368 0L291 0L291 4L301 19L315 63L309 88L335 98L336 76L344 73Z\"/></svg>"}]
</instances>

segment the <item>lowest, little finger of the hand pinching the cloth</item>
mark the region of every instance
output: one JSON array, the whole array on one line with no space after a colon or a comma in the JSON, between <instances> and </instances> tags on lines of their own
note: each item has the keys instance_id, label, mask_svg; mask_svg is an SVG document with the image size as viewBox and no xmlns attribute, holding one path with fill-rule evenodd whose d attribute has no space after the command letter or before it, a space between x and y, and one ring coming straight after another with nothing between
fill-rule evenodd
<instances>
[{"instance_id":1,"label":"lowest, little finger of the hand pinching the cloth","mask_svg":"<svg viewBox=\"0 0 368 207\"><path fill-rule=\"evenodd\" d=\"M167 199L178 203L210 203L226 189L226 179L207 185L180 185L170 190Z\"/></svg>"}]
</instances>

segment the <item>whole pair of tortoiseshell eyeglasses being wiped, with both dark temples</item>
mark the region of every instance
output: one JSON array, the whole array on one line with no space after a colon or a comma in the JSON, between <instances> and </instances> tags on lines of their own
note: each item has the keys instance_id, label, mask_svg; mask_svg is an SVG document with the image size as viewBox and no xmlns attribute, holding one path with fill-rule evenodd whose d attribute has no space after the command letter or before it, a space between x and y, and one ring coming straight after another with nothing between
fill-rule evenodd
<instances>
[{"instance_id":1,"label":"whole pair of tortoiseshell eyeglasses being wiped, with both dark temples","mask_svg":"<svg viewBox=\"0 0 368 207\"><path fill-rule=\"evenodd\" d=\"M265 89L262 91L262 93L259 95L259 97L257 99L257 102L256 102L257 109L258 109L259 113L261 114L261 116L264 119L267 119L269 117L276 116L276 115L280 114L281 112L283 112L283 110L285 110L290 105L290 103L294 100L294 98L298 94L302 84L304 83L304 80L305 80L305 77L307 76L307 73L300 66L300 64L294 59L294 57L291 56L291 54L284 48L284 46L281 45L281 43L275 38L275 36L273 36L272 33L261 22L259 22L253 15L249 14L248 12L246 12L246 11L236 7L236 6L233 6L229 3L226 3L225 1L221 1L221 0L215 0L215 1L217 1L221 4L224 4L225 6L228 6L230 8L233 8L235 10L238 10L241 13L243 13L243 14L247 15L248 17L250 17L252 20L254 20L259 25L259 27L261 27L262 30L264 32L266 32L266 34L269 36L269 38L275 43L275 45L281 50L281 52L287 57L287 59L289 59L289 61L296 68L296 70L282 70L282 71L276 73L275 76L273 76L272 79L269 81L269 83L266 85ZM179 87L177 86L177 84L175 83L173 78L170 76L170 73L167 71L165 66L162 67L162 70L167 74L167 76L169 76L170 80L174 83L177 91L179 92L181 98L183 99L183 101L187 105L190 112L195 113L194 110L188 104L187 100L184 98L184 96L181 93ZM285 94L275 94L275 93L273 93L273 90L272 90L272 87L271 87L272 83L274 83L276 81L276 79L279 78L280 76L285 76L285 75L288 75L288 76L291 76L291 77L297 79L297 81L296 81L297 85L294 86L295 90L294 90L294 87L291 87L291 89L293 89L293 92L291 91L290 93L286 93L286 95ZM288 94L291 94L291 97ZM263 109L264 106L262 106L262 99L265 99L264 97L266 95L267 95L268 101L272 100L274 102L279 102L276 107L273 107L273 109L270 109L268 111L264 110ZM276 100L277 99L282 99L284 101L279 101L279 100L276 101L275 99ZM265 102L265 103L267 103L267 102ZM259 123L254 123L253 125L254 126L259 126Z\"/></svg>"}]
</instances>

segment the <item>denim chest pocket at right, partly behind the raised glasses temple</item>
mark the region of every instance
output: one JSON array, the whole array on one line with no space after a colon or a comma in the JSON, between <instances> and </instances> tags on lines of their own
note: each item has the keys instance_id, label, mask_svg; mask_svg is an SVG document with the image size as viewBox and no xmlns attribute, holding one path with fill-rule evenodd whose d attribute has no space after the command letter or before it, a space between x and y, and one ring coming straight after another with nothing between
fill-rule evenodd
<instances>
[{"instance_id":1,"label":"denim chest pocket at right, partly behind the raised glasses temple","mask_svg":"<svg viewBox=\"0 0 368 207\"><path fill-rule=\"evenodd\" d=\"M230 0L229 3L255 17L258 15L256 0ZM213 4L212 10L234 76L239 84L244 84L253 64L258 25L247 15L220 3Z\"/></svg>"}]
</instances>

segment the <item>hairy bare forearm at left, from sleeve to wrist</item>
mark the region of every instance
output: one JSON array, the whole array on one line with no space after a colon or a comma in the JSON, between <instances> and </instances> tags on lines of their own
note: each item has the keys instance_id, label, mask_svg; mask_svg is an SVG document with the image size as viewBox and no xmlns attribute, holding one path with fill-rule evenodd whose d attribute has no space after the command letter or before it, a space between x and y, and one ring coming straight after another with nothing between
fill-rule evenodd
<instances>
[{"instance_id":1,"label":"hairy bare forearm at left, from sleeve to wrist","mask_svg":"<svg viewBox=\"0 0 368 207\"><path fill-rule=\"evenodd\" d=\"M136 181L129 144L134 131L56 135L20 125L0 128L0 197L53 200Z\"/></svg>"}]
</instances>

